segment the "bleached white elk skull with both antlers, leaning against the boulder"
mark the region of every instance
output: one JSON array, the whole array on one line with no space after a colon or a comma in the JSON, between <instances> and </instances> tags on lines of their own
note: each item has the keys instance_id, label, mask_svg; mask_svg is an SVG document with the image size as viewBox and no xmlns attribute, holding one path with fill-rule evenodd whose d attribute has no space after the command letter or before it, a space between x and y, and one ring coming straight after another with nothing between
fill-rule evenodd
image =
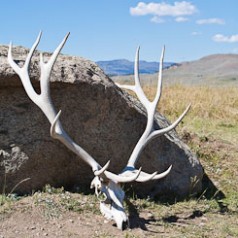
<instances>
[{"instance_id":1,"label":"bleached white elk skull with both antlers, leaning against the boulder","mask_svg":"<svg viewBox=\"0 0 238 238\"><path fill-rule=\"evenodd\" d=\"M157 93L155 99L152 102L150 102L146 98L140 85L139 72L138 72L139 71L138 69L139 48L138 48L135 60L135 85L134 86L120 85L120 87L133 90L137 94L138 98L143 103L147 111L148 116L147 126L143 135L138 141L136 147L134 148L130 156L130 159L127 163L127 166L122 171L122 173L116 175L107 171L110 161L108 161L106 165L104 165L104 167L101 167L89 153L87 153L82 147L77 145L69 137L69 135L64 131L62 124L59 120L61 111L59 111L59 113L56 114L53 103L51 101L50 87L49 87L51 70L68 36L69 34L65 36L65 38L56 48L56 50L54 51L53 55L50 57L47 63L44 63L43 55L40 54L40 69L41 69L40 94L37 94L34 88L32 87L28 71L33 53L40 42L41 33L38 35L35 43L33 44L26 58L25 64L22 68L20 68L12 59L11 43L8 51L8 61L9 64L12 66L12 68L15 70L15 72L19 75L23 87L29 98L43 111L45 116L48 118L51 124L50 129L51 136L61 141L66 147L68 147L71 151L73 151L76 155L78 155L81 159L83 159L89 166L91 166L95 175L95 178L91 183L91 187L95 188L95 193L97 196L99 196L100 193L103 193L105 196L105 199L100 201L100 210L102 214L108 219L113 219L116 222L117 227L123 229L123 225L127 222L128 218L123 208L123 200L125 193L122 190L120 183L127 183L134 180L138 182L145 182L151 179L160 179L170 172L171 166L161 174L157 174L157 172L153 174L147 174L145 172L141 172L141 168L138 170L135 169L135 164L139 158L142 149L146 146L146 144L153 138L163 135L172 130L173 128L175 128L178 125L178 123L182 120L182 118L185 116L190 106L187 107L187 109L177 119L177 121L175 121L172 125L168 126L167 128L163 128L160 130L155 130L153 128L154 114L161 94L162 63L164 57L164 50L162 51L162 56L160 60L160 73L159 73Z\"/></svg>"}]
</instances>

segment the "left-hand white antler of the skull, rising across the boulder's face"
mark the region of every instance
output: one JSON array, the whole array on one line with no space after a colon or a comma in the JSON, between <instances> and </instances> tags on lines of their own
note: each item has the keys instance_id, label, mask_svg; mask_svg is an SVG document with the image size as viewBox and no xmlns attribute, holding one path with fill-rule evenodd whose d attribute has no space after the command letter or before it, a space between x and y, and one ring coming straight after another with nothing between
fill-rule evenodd
<instances>
[{"instance_id":1,"label":"left-hand white antler of the skull, rising across the boulder's face","mask_svg":"<svg viewBox=\"0 0 238 238\"><path fill-rule=\"evenodd\" d=\"M31 80L29 77L29 64L31 61L31 58L33 56L33 53L38 46L40 39L41 39L42 33L40 32L35 43L33 44L27 58L25 61L25 64L22 68L20 68L12 59L12 44L9 45L9 51L8 51L8 61L9 64L12 66L14 71L19 75L21 82L23 84L23 87L29 96L29 98L43 111L45 116L48 118L50 124L51 124L51 136L55 139L60 140L66 147L68 147L71 151L73 151L75 154L77 154L81 159L83 159L89 166L91 166L94 175L95 176L102 176L104 175L106 178L120 182L120 183L126 183L134 181L140 174L140 170L138 170L138 173L133 174L132 176L126 178L123 176L119 176L116 174L113 174L109 171L107 171L107 168L109 167L110 161L106 163L104 167L101 167L95 159L87 153L82 147L77 145L70 137L69 135L64 131L61 122L59 121L59 116L61 111L56 114L56 111L54 109L54 105L51 101L50 97L50 74L53 68L53 65L57 59L57 56L59 55L61 49L63 48L69 33L64 37L63 41L59 44L59 46L55 49L53 55L49 59L47 63L44 63L43 55L40 54L40 69L41 69L41 76L40 76L40 88L41 93L37 94L32 87Z\"/></svg>"}]
</instances>

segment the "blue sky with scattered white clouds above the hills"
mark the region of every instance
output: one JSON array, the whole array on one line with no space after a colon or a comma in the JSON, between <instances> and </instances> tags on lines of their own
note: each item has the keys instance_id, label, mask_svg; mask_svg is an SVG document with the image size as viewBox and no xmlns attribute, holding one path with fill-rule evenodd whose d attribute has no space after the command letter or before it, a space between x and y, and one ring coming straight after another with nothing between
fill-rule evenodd
<instances>
[{"instance_id":1,"label":"blue sky with scattered white clouds above the hills","mask_svg":"<svg viewBox=\"0 0 238 238\"><path fill-rule=\"evenodd\" d=\"M67 32L63 53L93 61L140 58L196 60L238 53L238 1L1 0L0 44L53 51Z\"/></svg>"}]
</instances>

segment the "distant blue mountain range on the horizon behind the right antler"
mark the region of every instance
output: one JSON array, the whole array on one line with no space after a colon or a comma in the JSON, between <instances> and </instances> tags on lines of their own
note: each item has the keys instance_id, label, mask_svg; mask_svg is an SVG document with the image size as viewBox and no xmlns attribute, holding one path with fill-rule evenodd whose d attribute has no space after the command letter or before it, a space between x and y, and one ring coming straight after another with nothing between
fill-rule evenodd
<instances>
[{"instance_id":1,"label":"distant blue mountain range on the horizon behind the right antler","mask_svg":"<svg viewBox=\"0 0 238 238\"><path fill-rule=\"evenodd\" d=\"M98 61L96 62L103 71L109 76L131 75L134 74L134 62L126 59ZM147 62L141 60L140 62L141 74L153 74L159 70L159 62ZM164 68L177 65L176 63L165 62Z\"/></svg>"}]
</instances>

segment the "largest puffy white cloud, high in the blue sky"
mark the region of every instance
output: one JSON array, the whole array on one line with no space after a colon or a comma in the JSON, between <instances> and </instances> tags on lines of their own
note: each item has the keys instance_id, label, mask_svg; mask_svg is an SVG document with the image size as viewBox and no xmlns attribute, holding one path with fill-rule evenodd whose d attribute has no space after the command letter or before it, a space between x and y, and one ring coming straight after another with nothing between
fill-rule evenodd
<instances>
[{"instance_id":1,"label":"largest puffy white cloud, high in the blue sky","mask_svg":"<svg viewBox=\"0 0 238 238\"><path fill-rule=\"evenodd\" d=\"M162 17L174 17L177 22L187 21L185 16L189 16L197 12L197 8L190 2L174 2L174 4L162 3L144 3L139 2L136 7L130 8L132 16L152 15L152 22L163 22Z\"/></svg>"}]
</instances>

